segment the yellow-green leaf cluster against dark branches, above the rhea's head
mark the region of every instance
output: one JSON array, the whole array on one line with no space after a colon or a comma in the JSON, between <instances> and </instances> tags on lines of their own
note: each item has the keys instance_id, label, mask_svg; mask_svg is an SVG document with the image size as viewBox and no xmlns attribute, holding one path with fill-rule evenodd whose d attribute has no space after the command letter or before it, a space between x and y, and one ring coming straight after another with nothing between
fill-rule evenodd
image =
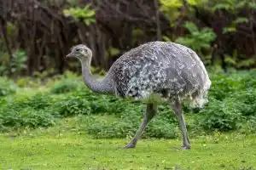
<instances>
[{"instance_id":1,"label":"yellow-green leaf cluster against dark branches, above the rhea's head","mask_svg":"<svg viewBox=\"0 0 256 170\"><path fill-rule=\"evenodd\" d=\"M95 10L90 9L89 5L84 6L84 8L68 8L63 10L65 16L72 16L75 20L83 20L86 26L95 23Z\"/></svg>"}]
</instances>

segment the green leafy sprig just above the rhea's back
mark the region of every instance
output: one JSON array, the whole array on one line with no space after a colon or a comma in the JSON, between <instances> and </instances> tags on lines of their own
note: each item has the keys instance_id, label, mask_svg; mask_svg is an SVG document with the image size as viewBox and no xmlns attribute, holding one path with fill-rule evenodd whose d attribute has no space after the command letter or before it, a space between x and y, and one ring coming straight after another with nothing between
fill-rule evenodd
<instances>
[{"instance_id":1,"label":"green leafy sprig just above the rhea's back","mask_svg":"<svg viewBox=\"0 0 256 170\"><path fill-rule=\"evenodd\" d=\"M199 54L202 54L202 49L209 50L211 48L211 42L216 38L211 28L199 30L193 22L186 22L184 26L189 30L189 35L178 37L175 42L188 46Z\"/></svg>"}]
</instances>

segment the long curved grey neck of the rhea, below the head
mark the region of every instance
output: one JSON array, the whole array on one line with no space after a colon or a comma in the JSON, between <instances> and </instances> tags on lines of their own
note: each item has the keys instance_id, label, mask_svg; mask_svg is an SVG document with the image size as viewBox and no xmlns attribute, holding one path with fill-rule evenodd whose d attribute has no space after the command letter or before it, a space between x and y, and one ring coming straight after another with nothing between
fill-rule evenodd
<instances>
[{"instance_id":1,"label":"long curved grey neck of the rhea, below the head","mask_svg":"<svg viewBox=\"0 0 256 170\"><path fill-rule=\"evenodd\" d=\"M90 72L90 61L85 61L82 59L80 61L82 65L84 83L88 86L88 88L101 94L113 93L113 86L108 80L108 77L105 77L102 81L96 80L94 77L92 77Z\"/></svg>"}]
</instances>

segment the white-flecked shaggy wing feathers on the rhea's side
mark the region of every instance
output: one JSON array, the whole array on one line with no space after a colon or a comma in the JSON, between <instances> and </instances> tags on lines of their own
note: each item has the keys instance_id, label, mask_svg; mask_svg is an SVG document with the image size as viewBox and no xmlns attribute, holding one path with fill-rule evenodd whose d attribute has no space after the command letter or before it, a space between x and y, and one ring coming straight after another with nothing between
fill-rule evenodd
<instances>
[{"instance_id":1,"label":"white-flecked shaggy wing feathers on the rhea's side","mask_svg":"<svg viewBox=\"0 0 256 170\"><path fill-rule=\"evenodd\" d=\"M154 55L137 53L119 59L111 72L120 96L143 97L164 80L162 68Z\"/></svg>"}]
</instances>

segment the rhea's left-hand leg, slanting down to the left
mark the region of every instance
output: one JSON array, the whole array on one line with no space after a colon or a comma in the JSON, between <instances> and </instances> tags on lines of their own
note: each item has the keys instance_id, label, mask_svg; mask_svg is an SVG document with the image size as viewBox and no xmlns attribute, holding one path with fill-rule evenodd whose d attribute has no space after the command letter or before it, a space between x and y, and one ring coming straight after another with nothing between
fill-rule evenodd
<instances>
[{"instance_id":1,"label":"rhea's left-hand leg, slanting down to the left","mask_svg":"<svg viewBox=\"0 0 256 170\"><path fill-rule=\"evenodd\" d=\"M151 119L154 117L154 115L156 114L156 111L157 111L156 103L148 103L147 104L147 109L146 109L146 112L144 113L143 121L141 122L141 125L138 128L137 133L135 134L133 139L131 139L131 142L129 144L125 145L124 149L135 148L135 146L137 144L137 140L143 134L143 131L147 127L148 122L150 122Z\"/></svg>"}]
</instances>

